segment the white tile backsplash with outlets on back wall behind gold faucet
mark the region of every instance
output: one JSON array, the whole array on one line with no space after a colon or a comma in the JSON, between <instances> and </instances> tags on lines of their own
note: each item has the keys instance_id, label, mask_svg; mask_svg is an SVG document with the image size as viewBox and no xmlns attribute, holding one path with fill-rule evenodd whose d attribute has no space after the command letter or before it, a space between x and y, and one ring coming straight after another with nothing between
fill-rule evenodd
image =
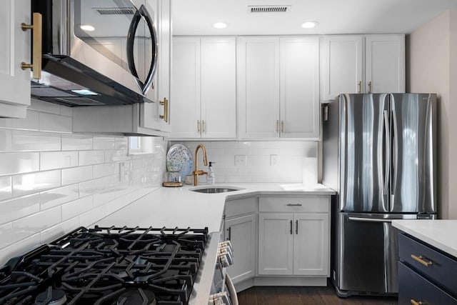
<instances>
[{"instance_id":1,"label":"white tile backsplash with outlets on back wall behind gold faucet","mask_svg":"<svg viewBox=\"0 0 457 305\"><path fill-rule=\"evenodd\" d=\"M204 144L208 161L214 161L216 183L303 181L303 174L317 173L316 141L180 141L194 156L198 144ZM271 165L271 155L277 164ZM235 156L246 156L246 166L236 166ZM199 169L206 171L199 151ZM317 178L316 178L317 180ZM206 181L206 176L199 180Z\"/></svg>"}]
</instances>

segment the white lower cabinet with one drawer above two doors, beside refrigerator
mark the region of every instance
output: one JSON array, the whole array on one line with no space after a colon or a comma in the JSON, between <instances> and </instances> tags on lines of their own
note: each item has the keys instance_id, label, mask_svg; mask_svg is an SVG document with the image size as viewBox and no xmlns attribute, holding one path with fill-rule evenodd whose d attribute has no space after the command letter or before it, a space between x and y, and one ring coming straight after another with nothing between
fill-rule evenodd
<instances>
[{"instance_id":1,"label":"white lower cabinet with one drawer above two doors, beside refrigerator","mask_svg":"<svg viewBox=\"0 0 457 305\"><path fill-rule=\"evenodd\" d=\"M329 209L328 196L261 198L258 274L329 276Z\"/></svg>"}]
</instances>

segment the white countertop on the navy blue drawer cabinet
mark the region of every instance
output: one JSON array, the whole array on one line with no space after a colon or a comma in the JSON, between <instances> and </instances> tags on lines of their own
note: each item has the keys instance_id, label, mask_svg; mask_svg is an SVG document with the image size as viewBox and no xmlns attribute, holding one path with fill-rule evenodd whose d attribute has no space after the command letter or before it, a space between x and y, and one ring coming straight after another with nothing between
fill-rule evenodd
<instances>
[{"instance_id":1,"label":"white countertop on the navy blue drawer cabinet","mask_svg":"<svg viewBox=\"0 0 457 305\"><path fill-rule=\"evenodd\" d=\"M457 220L404 219L394 220L392 225L431 246L457 257Z\"/></svg>"}]
</instances>

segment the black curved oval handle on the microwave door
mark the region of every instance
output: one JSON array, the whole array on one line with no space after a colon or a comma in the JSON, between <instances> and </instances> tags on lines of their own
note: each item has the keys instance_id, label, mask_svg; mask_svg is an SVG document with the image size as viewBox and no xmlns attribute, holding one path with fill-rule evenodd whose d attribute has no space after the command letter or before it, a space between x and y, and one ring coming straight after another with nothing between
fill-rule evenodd
<instances>
[{"instance_id":1,"label":"black curved oval handle on the microwave door","mask_svg":"<svg viewBox=\"0 0 457 305\"><path fill-rule=\"evenodd\" d=\"M144 18L146 24L148 25L149 31L151 32L151 39L152 44L154 46L152 50L152 62L151 66L149 67L148 76L146 76L146 80L144 83L139 79L138 72L136 71L135 61L134 61L134 40L135 40L135 32L136 28L138 27L139 22L141 21L141 17ZM149 88L152 85L152 79L154 78L154 74L156 73L156 64L157 64L157 32L156 27L154 26L154 21L151 19L148 10L146 7L141 4L138 10L136 10L134 17L132 18L131 24L129 26L129 34L127 35L127 63L129 64L129 70L133 76L135 76L136 83L141 89L141 92L146 95Z\"/></svg>"}]
</instances>

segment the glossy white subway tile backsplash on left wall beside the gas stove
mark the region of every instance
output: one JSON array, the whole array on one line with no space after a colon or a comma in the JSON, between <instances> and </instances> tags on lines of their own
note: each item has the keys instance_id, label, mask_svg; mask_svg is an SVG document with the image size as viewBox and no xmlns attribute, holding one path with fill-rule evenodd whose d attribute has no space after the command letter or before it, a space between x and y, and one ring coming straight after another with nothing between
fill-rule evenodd
<instances>
[{"instance_id":1,"label":"glossy white subway tile backsplash on left wall beside the gas stove","mask_svg":"<svg viewBox=\"0 0 457 305\"><path fill-rule=\"evenodd\" d=\"M125 136L72 134L71 126L71 108L34 100L27 119L0 119L0 266L161 184L161 138L154 154L128 156Z\"/></svg>"}]
</instances>

